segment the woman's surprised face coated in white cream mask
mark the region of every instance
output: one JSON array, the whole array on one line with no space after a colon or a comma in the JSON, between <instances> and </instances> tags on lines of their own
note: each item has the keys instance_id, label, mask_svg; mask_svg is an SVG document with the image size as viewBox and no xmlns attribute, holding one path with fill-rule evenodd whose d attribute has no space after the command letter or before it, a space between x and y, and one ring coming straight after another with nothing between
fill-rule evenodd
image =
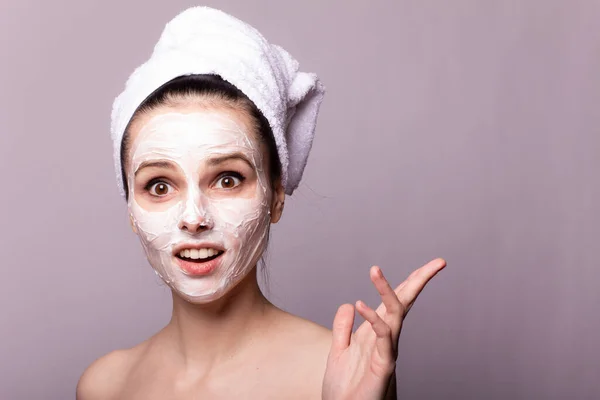
<instances>
[{"instance_id":1,"label":"woman's surprised face coated in white cream mask","mask_svg":"<svg viewBox=\"0 0 600 400\"><path fill-rule=\"evenodd\" d=\"M218 299L256 265L266 245L271 190L260 149L226 113L206 110L151 118L131 155L128 209L148 261L186 300ZM152 162L172 168L144 168ZM244 168L251 177L223 174ZM169 178L155 179L162 177Z\"/></svg>"}]
</instances>

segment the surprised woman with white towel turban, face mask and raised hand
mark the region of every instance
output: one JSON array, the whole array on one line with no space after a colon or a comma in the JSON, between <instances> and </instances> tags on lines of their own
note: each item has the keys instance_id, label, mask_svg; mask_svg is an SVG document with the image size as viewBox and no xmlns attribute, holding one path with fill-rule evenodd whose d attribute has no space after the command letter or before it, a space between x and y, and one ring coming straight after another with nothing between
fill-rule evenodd
<instances>
[{"instance_id":1,"label":"surprised woman with white towel turban, face mask and raised hand","mask_svg":"<svg viewBox=\"0 0 600 400\"><path fill-rule=\"evenodd\" d=\"M395 398L402 320L445 266L435 259L382 304L338 309L333 331L261 293L256 265L301 178L324 88L243 22L196 7L172 20L115 100L111 132L130 222L172 289L169 324L90 365L90 399Z\"/></svg>"}]
</instances>

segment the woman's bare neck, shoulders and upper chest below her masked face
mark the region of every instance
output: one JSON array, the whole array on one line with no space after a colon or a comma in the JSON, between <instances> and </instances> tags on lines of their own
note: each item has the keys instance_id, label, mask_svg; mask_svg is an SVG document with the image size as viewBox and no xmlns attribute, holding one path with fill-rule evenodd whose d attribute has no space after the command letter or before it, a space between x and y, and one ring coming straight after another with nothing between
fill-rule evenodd
<instances>
[{"instance_id":1,"label":"woman's bare neck, shoulders and upper chest below her masked face","mask_svg":"<svg viewBox=\"0 0 600 400\"><path fill-rule=\"evenodd\" d=\"M79 400L320 399L331 332L269 303L255 271L220 304L173 296L169 324L96 360Z\"/></svg>"}]
</instances>

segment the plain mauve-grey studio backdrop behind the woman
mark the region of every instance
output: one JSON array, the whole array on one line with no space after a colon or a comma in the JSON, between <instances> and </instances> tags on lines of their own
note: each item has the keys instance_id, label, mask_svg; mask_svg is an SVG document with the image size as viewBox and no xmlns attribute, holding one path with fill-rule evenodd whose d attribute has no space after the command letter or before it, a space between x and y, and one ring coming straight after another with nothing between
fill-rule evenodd
<instances>
[{"instance_id":1,"label":"plain mauve-grey studio backdrop behind the woman","mask_svg":"<svg viewBox=\"0 0 600 400\"><path fill-rule=\"evenodd\" d=\"M379 303L371 265L395 286L444 257L400 338L400 398L600 398L600 2L204 4L328 89L272 231L275 304L331 327L340 304ZM74 398L94 359L168 322L110 109L192 5L2 1L3 400Z\"/></svg>"}]
</instances>

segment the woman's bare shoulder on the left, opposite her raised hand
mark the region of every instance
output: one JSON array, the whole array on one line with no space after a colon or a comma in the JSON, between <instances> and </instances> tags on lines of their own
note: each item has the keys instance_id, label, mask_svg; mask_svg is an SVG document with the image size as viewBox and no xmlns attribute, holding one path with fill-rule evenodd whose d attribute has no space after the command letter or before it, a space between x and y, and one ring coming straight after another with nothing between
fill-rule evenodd
<instances>
[{"instance_id":1,"label":"woman's bare shoulder on the left, opposite her raised hand","mask_svg":"<svg viewBox=\"0 0 600 400\"><path fill-rule=\"evenodd\" d=\"M143 342L130 349L114 350L91 363L77 383L77 400L118 398L127 375L146 346Z\"/></svg>"}]
</instances>

